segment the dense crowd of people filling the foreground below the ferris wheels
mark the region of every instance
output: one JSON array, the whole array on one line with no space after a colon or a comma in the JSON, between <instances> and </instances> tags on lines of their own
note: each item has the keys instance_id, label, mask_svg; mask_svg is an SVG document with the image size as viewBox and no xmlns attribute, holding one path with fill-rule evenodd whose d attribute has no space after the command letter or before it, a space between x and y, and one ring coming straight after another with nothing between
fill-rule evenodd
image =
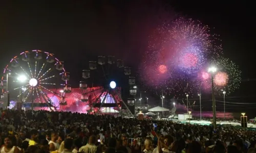
<instances>
[{"instance_id":1,"label":"dense crowd of people filling the foreground below the ferris wheels","mask_svg":"<svg viewBox=\"0 0 256 153\"><path fill-rule=\"evenodd\" d=\"M0 109L0 152L256 153L256 132L111 115Z\"/></svg>"}]
</instances>

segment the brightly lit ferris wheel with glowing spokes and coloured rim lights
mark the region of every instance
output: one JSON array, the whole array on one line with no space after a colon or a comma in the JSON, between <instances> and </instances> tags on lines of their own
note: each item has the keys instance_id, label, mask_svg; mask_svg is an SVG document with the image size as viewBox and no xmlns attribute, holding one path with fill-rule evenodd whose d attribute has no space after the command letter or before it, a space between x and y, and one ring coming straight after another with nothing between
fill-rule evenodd
<instances>
[{"instance_id":1,"label":"brightly lit ferris wheel with glowing spokes and coloured rim lights","mask_svg":"<svg viewBox=\"0 0 256 153\"><path fill-rule=\"evenodd\" d=\"M11 58L1 78L2 93L23 102L24 107L49 107L56 110L71 92L70 75L54 54L40 50L25 51ZM59 93L58 88L63 88ZM56 90L53 90L56 89ZM51 95L51 96L49 96ZM57 96L58 101L53 101Z\"/></svg>"}]
</instances>

